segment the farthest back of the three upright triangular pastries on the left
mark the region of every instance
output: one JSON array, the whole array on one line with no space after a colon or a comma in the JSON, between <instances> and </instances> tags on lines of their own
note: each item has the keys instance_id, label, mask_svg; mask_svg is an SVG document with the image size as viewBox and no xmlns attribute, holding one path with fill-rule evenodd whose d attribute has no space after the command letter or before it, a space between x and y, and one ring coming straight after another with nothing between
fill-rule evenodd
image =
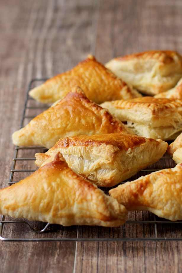
<instances>
[{"instance_id":1,"label":"farthest back of the three upright triangular pastries on the left","mask_svg":"<svg viewBox=\"0 0 182 273\"><path fill-rule=\"evenodd\" d=\"M78 63L72 70L33 88L29 95L43 103L55 102L62 99L75 86L80 86L87 98L96 103L141 96L133 87L129 87L97 62L92 55Z\"/></svg>"}]
</instances>

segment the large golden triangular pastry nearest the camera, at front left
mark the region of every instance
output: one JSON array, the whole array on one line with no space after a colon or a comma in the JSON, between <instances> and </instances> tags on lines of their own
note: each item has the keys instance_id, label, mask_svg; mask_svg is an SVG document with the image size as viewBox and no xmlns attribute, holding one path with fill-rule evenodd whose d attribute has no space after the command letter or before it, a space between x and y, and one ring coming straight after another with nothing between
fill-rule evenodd
<instances>
[{"instance_id":1,"label":"large golden triangular pastry nearest the camera, at front left","mask_svg":"<svg viewBox=\"0 0 182 273\"><path fill-rule=\"evenodd\" d=\"M127 210L57 154L29 177L0 190L0 214L63 226L120 226Z\"/></svg>"}]
</instances>

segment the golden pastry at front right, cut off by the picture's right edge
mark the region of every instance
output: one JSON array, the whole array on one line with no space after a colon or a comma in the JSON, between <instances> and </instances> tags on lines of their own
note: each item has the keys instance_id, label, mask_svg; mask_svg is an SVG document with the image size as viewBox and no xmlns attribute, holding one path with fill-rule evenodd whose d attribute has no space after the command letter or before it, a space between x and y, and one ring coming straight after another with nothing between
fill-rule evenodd
<instances>
[{"instance_id":1,"label":"golden pastry at front right, cut off by the picture's right edge","mask_svg":"<svg viewBox=\"0 0 182 273\"><path fill-rule=\"evenodd\" d=\"M182 164L126 182L109 194L128 210L149 210L171 221L182 220Z\"/></svg>"}]
</instances>

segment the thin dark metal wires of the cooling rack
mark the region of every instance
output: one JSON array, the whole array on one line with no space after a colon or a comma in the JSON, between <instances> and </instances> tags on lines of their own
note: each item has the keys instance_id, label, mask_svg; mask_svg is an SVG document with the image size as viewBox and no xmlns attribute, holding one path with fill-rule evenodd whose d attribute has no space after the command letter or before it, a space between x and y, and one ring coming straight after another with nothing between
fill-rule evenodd
<instances>
[{"instance_id":1,"label":"thin dark metal wires of the cooling rack","mask_svg":"<svg viewBox=\"0 0 182 273\"><path fill-rule=\"evenodd\" d=\"M22 120L21 120L21 124L20 124L20 128L22 128L24 126L24 121L25 119L32 119L34 116L37 115L37 112L36 111L44 111L46 110L49 106L48 105L41 105L40 103L37 104L36 102L36 105L28 105L28 102L33 102L34 100L29 97L28 95L28 92L29 90L32 88L33 85L37 85L38 83L40 82L43 82L45 81L46 79L32 79L30 84L29 84L29 87L28 87L28 90L27 90L27 94L26 94L26 98L25 98L25 105L24 105L24 109L23 109L23 114L22 114ZM26 111L27 110L31 110L31 111L34 111L35 113L33 115L29 114L29 115L26 115ZM32 151L32 155L29 156L29 157L26 157L26 155L24 154L25 151ZM28 162L28 161L34 161L35 158L34 158L34 153L33 151L36 150L36 151L40 151L40 150L44 150L45 151L45 148L44 147L18 147L16 146L15 147L15 153L14 153L14 158L13 158L13 163L12 163L12 169L10 171L10 177L9 177L9 182L8 182L8 185L12 185L14 183L17 183L18 181L13 181L13 178L14 178L14 175L15 173L32 173L34 172L35 170L34 169L24 169L23 168L23 163L24 162ZM22 152L22 156L18 157L20 151ZM172 159L170 157L162 157L161 160L171 160ZM15 166L17 164L17 162L19 163L20 167L22 168L18 168L16 169ZM141 170L140 173L143 174L144 172L146 174L149 174L153 171L157 171L159 170L160 168L153 168L153 169L145 169L145 170ZM139 177L140 175L138 175ZM20 180L20 179L19 179ZM138 212L136 212L137 214ZM166 221L166 220L163 220L161 218L157 218L155 215L152 215L153 216L153 220L132 220L132 221L127 221L125 225L147 225L147 226L153 226L153 234L151 236L151 234L149 234L149 237L133 237L133 236L125 236L123 235L125 232L125 225L123 226L123 231L120 232L119 236L107 236L107 237L103 237L103 236L98 236L98 237L91 237L91 236L88 236L88 237L79 237L79 230L80 229L84 229L86 228L85 226L83 227L75 227L74 226L74 230L75 230L75 236L67 236L67 237L47 237L47 236L43 236L44 234L52 234L49 229L51 226L53 225L50 225L49 223L45 223L44 227L41 228L41 229L36 229L34 227L31 226L31 224L29 223L29 221L27 220L14 220L14 219L11 219L11 220L7 220L6 219L6 216L2 215L1 216L1 221L0 221L0 240L3 240L3 241L72 241L72 242L80 242L80 241L180 241L182 240L182 235L177 236L173 236L174 234L170 234L170 236L158 236L158 225L165 225L165 228L167 226L171 226L173 227L173 230L175 231L176 229L176 225L177 226L181 226L182 224L182 221L176 221L176 222L171 222L171 221ZM36 222L35 222L36 223ZM10 234L13 234L13 226L16 226L18 224L23 224L25 226L25 229L28 228L31 232L30 232L30 236L29 237L20 237L20 238L14 238L14 237L7 237L7 236L4 236L3 234L4 233L8 233L8 227L11 226L11 232ZM88 227L87 227L88 228ZM101 228L102 230L100 230L102 233L104 228L103 227L99 227ZM90 227L90 229L94 229L94 227ZM105 228L107 229L107 228ZM48 232L49 231L49 232ZM88 231L88 229L87 229ZM48 232L48 233L47 233ZM113 232L116 232L116 228L113 230ZM88 232L89 233L89 232ZM92 232L90 232L91 234ZM117 233L118 233L118 230L117 230ZM43 234L42 236L43 237L35 237L34 235L35 234ZM69 232L68 232L68 235L69 235Z\"/></svg>"}]
</instances>

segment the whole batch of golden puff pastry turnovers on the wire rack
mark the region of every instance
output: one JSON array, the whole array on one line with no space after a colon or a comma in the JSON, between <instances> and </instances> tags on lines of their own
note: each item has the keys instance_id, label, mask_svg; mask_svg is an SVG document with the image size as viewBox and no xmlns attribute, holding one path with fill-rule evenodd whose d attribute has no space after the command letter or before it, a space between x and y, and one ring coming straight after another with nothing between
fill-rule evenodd
<instances>
[{"instance_id":1,"label":"whole batch of golden puff pastry turnovers on the wire rack","mask_svg":"<svg viewBox=\"0 0 182 273\"><path fill-rule=\"evenodd\" d=\"M13 143L49 150L35 154L35 173L0 190L1 214L64 226L120 226L128 210L182 220L181 55L147 51L105 66L89 55L29 95L53 105L14 132ZM126 181L166 151L176 167L109 195L98 188Z\"/></svg>"}]
</instances>

